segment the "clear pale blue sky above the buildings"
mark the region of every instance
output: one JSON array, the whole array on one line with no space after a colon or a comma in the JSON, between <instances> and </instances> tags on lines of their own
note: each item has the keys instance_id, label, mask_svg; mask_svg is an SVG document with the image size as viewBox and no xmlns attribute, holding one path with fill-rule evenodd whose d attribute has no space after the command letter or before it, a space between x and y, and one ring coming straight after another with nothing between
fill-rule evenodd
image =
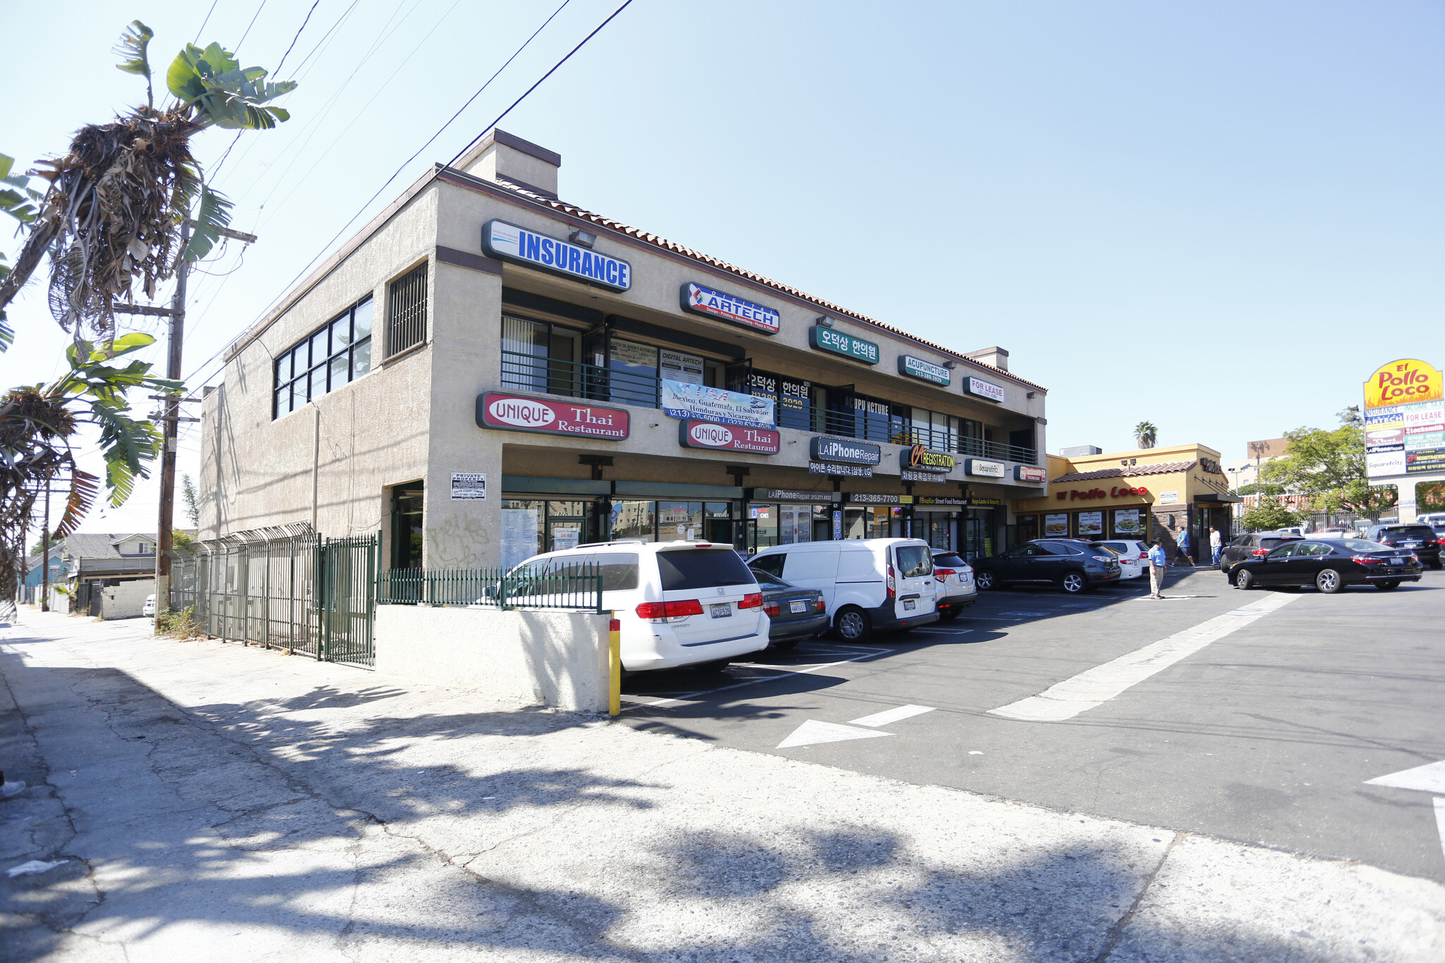
<instances>
[{"instance_id":1,"label":"clear pale blue sky above the buildings","mask_svg":"<svg viewBox=\"0 0 1445 963\"><path fill-rule=\"evenodd\" d=\"M342 17L350 0L321 0L280 72L302 82L293 118L243 136L217 178L262 240L192 276L186 372L214 374L559 1ZM113 66L121 27L156 30L163 71L207 6L71 3L64 30L7 12L27 39L0 64L17 91L0 152L59 153L143 98ZM614 7L568 3L371 209ZM217 4L202 40L244 35L241 59L275 66L308 9ZM562 154L564 199L958 349L1003 345L1049 388L1049 450L1127 448L1149 419L1162 445L1241 458L1332 424L1386 361L1445 364L1442 27L1438 3L634 0L501 126ZM198 156L214 166L231 137L202 134ZM56 372L43 283L12 316L3 384ZM189 426L182 469L198 450ZM155 501L143 485L87 528L153 527Z\"/></svg>"}]
</instances>

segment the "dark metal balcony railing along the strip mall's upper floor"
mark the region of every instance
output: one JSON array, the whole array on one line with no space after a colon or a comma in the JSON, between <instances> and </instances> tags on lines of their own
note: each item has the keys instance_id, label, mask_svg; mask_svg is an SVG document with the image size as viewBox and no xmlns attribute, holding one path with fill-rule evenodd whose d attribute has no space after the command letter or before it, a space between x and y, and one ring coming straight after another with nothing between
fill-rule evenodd
<instances>
[{"instance_id":1,"label":"dark metal balcony railing along the strip mall's upper floor","mask_svg":"<svg viewBox=\"0 0 1445 963\"><path fill-rule=\"evenodd\" d=\"M561 394L588 401L662 407L662 378L657 375L601 368L578 361L540 358L523 351L501 351L501 385L514 391ZM910 426L902 419L877 413L790 406L783 400L777 404L777 426L884 445L923 445L955 455L1038 465L1038 450L1033 448L985 442L981 437L968 437L955 432Z\"/></svg>"}]
</instances>

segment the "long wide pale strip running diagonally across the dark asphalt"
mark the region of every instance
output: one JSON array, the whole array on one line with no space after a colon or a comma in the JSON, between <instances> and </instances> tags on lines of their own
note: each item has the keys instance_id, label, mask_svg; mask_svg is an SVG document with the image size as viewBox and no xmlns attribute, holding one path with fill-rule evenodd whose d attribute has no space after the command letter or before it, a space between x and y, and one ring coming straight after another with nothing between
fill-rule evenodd
<instances>
[{"instance_id":1,"label":"long wide pale strip running diagonally across the dark asphalt","mask_svg":"<svg viewBox=\"0 0 1445 963\"><path fill-rule=\"evenodd\" d=\"M1104 705L1110 699L1137 686L1155 673L1163 671L1181 658L1195 654L1277 608L1289 605L1300 595L1270 595L1250 605L1217 615L1157 642L1136 648L1103 666L1049 686L1036 696L990 709L988 715L1023 722L1062 722Z\"/></svg>"}]
</instances>

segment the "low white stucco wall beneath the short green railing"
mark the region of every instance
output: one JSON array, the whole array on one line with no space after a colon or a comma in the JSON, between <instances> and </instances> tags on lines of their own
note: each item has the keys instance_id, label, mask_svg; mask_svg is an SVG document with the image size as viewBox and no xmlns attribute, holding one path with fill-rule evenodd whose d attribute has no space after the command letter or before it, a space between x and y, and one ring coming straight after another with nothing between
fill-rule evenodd
<instances>
[{"instance_id":1,"label":"low white stucco wall beneath the short green railing","mask_svg":"<svg viewBox=\"0 0 1445 963\"><path fill-rule=\"evenodd\" d=\"M496 699L605 712L608 618L379 605L376 670Z\"/></svg>"}]
</instances>

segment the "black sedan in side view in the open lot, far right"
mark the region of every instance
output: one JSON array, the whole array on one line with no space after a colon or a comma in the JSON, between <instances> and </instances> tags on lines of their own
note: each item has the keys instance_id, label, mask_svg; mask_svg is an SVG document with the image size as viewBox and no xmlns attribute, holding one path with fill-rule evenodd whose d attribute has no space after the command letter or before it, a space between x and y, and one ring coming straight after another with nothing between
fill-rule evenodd
<instances>
[{"instance_id":1,"label":"black sedan in side view in the open lot, far right","mask_svg":"<svg viewBox=\"0 0 1445 963\"><path fill-rule=\"evenodd\" d=\"M1287 541L1269 554L1230 566L1230 582L1240 589L1266 585L1314 585L1332 595L1347 585L1397 589L1420 580L1419 557L1363 539L1306 539Z\"/></svg>"}]
</instances>

